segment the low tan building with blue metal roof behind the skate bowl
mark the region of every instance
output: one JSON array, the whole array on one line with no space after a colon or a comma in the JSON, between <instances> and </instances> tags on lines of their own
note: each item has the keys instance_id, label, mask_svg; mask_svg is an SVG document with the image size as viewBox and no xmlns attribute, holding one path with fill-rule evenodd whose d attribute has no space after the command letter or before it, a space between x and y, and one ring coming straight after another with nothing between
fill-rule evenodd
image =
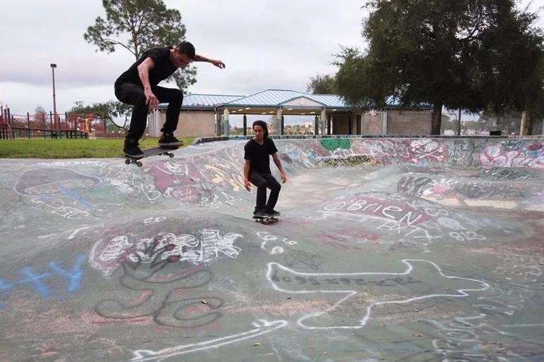
<instances>
[{"instance_id":1,"label":"low tan building with blue metal roof behind the skate bowl","mask_svg":"<svg viewBox=\"0 0 544 362\"><path fill-rule=\"evenodd\" d=\"M150 136L159 136L166 120L168 104L159 104L149 116ZM315 135L431 135L432 105L401 108L394 101L385 111L357 111L335 94L307 94L283 89L267 89L249 96L188 94L183 99L176 137L229 135L229 119L243 116L244 132L251 124L247 116L267 120L276 116L273 129L283 135L285 116L314 117Z\"/></svg>"}]
</instances>

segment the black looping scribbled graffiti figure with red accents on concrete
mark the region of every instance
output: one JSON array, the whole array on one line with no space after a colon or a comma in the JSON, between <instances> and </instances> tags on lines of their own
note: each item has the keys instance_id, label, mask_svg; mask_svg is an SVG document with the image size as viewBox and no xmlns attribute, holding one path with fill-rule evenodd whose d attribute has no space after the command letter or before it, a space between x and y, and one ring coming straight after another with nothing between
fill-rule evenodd
<instances>
[{"instance_id":1,"label":"black looping scribbled graffiti figure with red accents on concrete","mask_svg":"<svg viewBox=\"0 0 544 362\"><path fill-rule=\"evenodd\" d=\"M124 244L125 240L116 242ZM123 287L123 297L99 301L94 311L106 320L95 323L135 323L152 318L161 327L218 327L211 323L221 317L221 312L216 310L223 301L204 297L196 289L211 280L211 272L198 265L194 268L176 268L175 273L168 274L168 266L174 263L187 265L183 263L180 244L174 242L159 236L119 254L116 261L122 267L118 280ZM165 272L166 275L163 274ZM204 298L206 304L203 306Z\"/></svg>"}]
</instances>

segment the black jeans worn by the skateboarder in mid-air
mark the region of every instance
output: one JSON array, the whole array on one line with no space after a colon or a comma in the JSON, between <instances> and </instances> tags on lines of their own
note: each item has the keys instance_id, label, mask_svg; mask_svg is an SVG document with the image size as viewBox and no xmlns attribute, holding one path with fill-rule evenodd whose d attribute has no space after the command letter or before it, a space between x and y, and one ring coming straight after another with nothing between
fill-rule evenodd
<instances>
[{"instance_id":1,"label":"black jeans worn by the skateboarder in mid-air","mask_svg":"<svg viewBox=\"0 0 544 362\"><path fill-rule=\"evenodd\" d=\"M183 103L183 92L179 89L164 87L152 87L153 94L161 103L168 103L166 108L166 122L161 128L161 132L173 133L178 128L180 118L181 104ZM123 83L115 87L115 94L119 101L130 104L132 108L132 119L130 128L125 137L126 141L130 139L136 142L142 138L147 125L147 113L149 105L145 104L144 88L134 83Z\"/></svg>"}]
</instances>

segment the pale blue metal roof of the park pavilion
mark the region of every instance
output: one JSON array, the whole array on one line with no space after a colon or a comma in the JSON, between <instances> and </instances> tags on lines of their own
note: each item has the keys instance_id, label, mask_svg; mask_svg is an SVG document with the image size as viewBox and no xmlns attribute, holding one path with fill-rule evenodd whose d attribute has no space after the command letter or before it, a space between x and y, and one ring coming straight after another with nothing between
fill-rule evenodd
<instances>
[{"instance_id":1,"label":"pale blue metal roof of the park pavilion","mask_svg":"<svg viewBox=\"0 0 544 362\"><path fill-rule=\"evenodd\" d=\"M223 94L187 94L183 97L183 108L223 108L223 107L252 107L267 108L280 107L288 101L306 98L315 101L324 108L352 108L346 106L340 96L336 94L308 94L287 89L266 89L249 96L223 95ZM389 107L399 107L397 99L390 97L387 100ZM166 108L168 104L161 103L159 108ZM422 104L426 108L426 104ZM304 107L302 107L304 108Z\"/></svg>"}]
</instances>

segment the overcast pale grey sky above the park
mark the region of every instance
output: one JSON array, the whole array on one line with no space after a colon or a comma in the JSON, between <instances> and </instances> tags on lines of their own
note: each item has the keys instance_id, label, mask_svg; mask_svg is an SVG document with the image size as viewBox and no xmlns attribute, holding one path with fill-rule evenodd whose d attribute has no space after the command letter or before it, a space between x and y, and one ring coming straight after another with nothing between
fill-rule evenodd
<instances>
[{"instance_id":1,"label":"overcast pale grey sky above the park","mask_svg":"<svg viewBox=\"0 0 544 362\"><path fill-rule=\"evenodd\" d=\"M527 3L528 1L523 1ZM309 77L334 73L340 47L362 46L364 0L166 0L187 27L197 54L221 59L221 70L195 63L190 92L249 95L264 89L306 91ZM134 61L118 49L96 52L83 34L101 0L0 1L0 101L15 114L37 105L53 111L51 68L56 63L56 107L68 111L115 99L113 82ZM533 1L533 8L544 0ZM175 85L167 85L175 87Z\"/></svg>"}]
</instances>

